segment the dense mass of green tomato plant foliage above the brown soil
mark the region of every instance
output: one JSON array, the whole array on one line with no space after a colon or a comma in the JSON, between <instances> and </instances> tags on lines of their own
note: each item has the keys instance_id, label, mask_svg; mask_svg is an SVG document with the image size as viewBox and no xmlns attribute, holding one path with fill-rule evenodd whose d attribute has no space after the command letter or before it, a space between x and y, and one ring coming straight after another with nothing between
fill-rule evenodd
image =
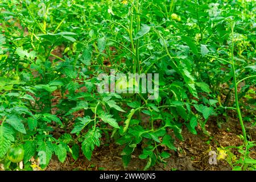
<instances>
[{"instance_id":1,"label":"dense mass of green tomato plant foliage above the brown soil","mask_svg":"<svg viewBox=\"0 0 256 182\"><path fill-rule=\"evenodd\" d=\"M200 126L210 135L208 120L230 109L244 141L241 159L230 163L255 169L255 143L243 126L255 126L254 1L5 0L0 12L5 168L14 169L6 158L13 143L31 170L33 156L46 168L53 154L60 162L80 152L90 160L102 142L114 142L123 146L124 166L141 147L148 169L177 150L172 134L183 140L183 126L195 135ZM98 93L97 76L110 69L159 73L159 97Z\"/></svg>"}]
</instances>

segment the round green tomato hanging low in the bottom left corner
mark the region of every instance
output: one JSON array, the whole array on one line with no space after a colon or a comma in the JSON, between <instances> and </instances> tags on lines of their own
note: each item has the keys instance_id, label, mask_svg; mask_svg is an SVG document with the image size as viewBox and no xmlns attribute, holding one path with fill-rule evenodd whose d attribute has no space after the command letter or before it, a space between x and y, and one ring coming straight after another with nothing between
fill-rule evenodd
<instances>
[{"instance_id":1,"label":"round green tomato hanging low in the bottom left corner","mask_svg":"<svg viewBox=\"0 0 256 182\"><path fill-rule=\"evenodd\" d=\"M13 163L19 163L24 159L24 150L21 146L11 146L7 151L7 158Z\"/></svg>"}]
</instances>

